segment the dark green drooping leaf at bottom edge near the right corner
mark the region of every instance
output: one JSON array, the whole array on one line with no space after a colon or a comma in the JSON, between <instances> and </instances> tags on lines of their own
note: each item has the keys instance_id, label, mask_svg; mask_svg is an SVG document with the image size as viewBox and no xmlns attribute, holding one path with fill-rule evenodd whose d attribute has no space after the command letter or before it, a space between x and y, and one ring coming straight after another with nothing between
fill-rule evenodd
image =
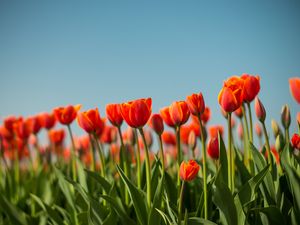
<instances>
[{"instance_id":1,"label":"dark green drooping leaf at bottom edge near the right corner","mask_svg":"<svg viewBox=\"0 0 300 225\"><path fill-rule=\"evenodd\" d=\"M265 214L268 218L269 224L286 225L286 222L280 210L274 206L269 206L266 208L254 208L251 209L251 211L256 211Z\"/></svg>"}]
</instances>

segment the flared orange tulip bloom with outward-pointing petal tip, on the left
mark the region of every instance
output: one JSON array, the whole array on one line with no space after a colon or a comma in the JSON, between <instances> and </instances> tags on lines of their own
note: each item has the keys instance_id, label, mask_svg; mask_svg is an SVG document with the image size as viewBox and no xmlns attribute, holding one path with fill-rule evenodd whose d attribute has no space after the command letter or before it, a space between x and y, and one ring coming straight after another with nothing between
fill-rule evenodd
<instances>
[{"instance_id":1,"label":"flared orange tulip bloom with outward-pointing petal tip, on the left","mask_svg":"<svg viewBox=\"0 0 300 225\"><path fill-rule=\"evenodd\" d=\"M58 107L54 109L54 115L61 124L69 125L76 119L77 112L80 108L81 105Z\"/></svg>"}]
</instances>

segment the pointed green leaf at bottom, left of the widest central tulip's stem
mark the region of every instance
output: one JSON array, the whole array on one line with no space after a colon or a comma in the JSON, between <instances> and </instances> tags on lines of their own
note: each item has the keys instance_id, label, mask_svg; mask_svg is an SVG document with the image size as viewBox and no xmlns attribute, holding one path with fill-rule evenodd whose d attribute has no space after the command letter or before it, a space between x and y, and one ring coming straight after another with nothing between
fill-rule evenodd
<instances>
[{"instance_id":1,"label":"pointed green leaf at bottom, left of the widest central tulip's stem","mask_svg":"<svg viewBox=\"0 0 300 225\"><path fill-rule=\"evenodd\" d=\"M125 176L124 172L118 165L117 170L127 187L127 190L133 202L138 221L141 224L146 225L148 220L148 212L145 204L146 196L144 192L140 191L137 187L134 186L134 184Z\"/></svg>"}]
</instances>

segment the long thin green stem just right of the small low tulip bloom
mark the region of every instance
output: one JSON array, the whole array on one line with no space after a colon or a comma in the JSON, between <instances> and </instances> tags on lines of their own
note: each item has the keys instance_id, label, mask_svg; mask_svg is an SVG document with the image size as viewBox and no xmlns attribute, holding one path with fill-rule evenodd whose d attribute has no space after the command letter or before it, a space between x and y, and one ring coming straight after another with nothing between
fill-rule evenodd
<instances>
[{"instance_id":1,"label":"long thin green stem just right of the small low tulip bloom","mask_svg":"<svg viewBox=\"0 0 300 225\"><path fill-rule=\"evenodd\" d=\"M203 153L203 193L204 193L204 219L207 219L207 172L206 172L206 148L204 140L204 128L200 115L198 115L198 120L201 129L201 143L202 143L202 153Z\"/></svg>"}]
</instances>

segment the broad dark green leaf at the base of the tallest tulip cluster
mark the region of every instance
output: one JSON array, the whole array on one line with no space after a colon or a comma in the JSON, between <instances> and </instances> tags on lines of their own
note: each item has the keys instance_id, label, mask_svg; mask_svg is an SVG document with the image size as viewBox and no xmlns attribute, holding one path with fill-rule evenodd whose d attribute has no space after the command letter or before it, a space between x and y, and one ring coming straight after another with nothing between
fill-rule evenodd
<instances>
[{"instance_id":1,"label":"broad dark green leaf at the base of the tallest tulip cluster","mask_svg":"<svg viewBox=\"0 0 300 225\"><path fill-rule=\"evenodd\" d=\"M237 211L234 204L234 199L231 191L221 178L221 172L223 168L217 174L215 180L215 188L213 189L213 202L217 205L220 211L224 214L227 224L238 224Z\"/></svg>"}]
</instances>

